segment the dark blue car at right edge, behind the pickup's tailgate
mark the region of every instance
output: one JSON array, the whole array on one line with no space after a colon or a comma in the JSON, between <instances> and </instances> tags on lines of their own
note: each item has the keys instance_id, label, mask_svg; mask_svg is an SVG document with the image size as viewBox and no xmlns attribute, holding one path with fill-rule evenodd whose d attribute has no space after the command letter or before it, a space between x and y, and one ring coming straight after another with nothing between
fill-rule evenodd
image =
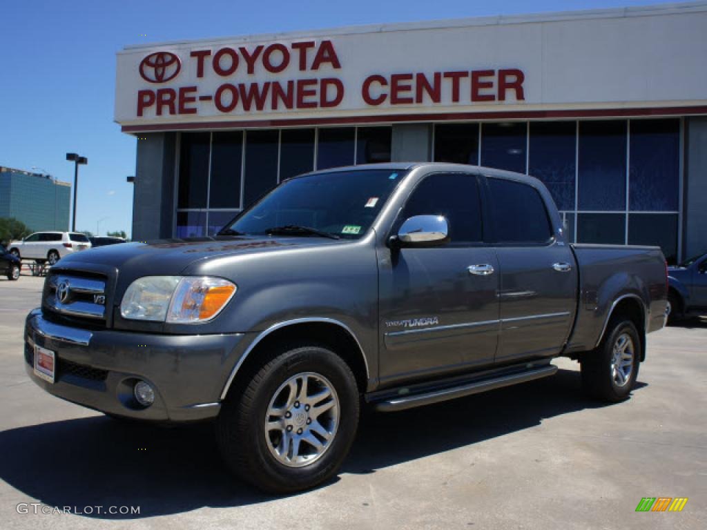
<instances>
[{"instance_id":1,"label":"dark blue car at right edge, behind the pickup's tailgate","mask_svg":"<svg viewBox=\"0 0 707 530\"><path fill-rule=\"evenodd\" d=\"M668 267L670 322L707 314L707 252Z\"/></svg>"}]
</instances>

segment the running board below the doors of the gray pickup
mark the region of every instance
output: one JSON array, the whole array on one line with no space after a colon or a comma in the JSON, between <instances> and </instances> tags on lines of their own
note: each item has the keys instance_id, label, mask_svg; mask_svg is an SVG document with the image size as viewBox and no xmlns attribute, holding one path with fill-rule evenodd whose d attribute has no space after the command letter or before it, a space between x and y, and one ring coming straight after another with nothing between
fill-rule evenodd
<instances>
[{"instance_id":1,"label":"running board below the doors of the gray pickup","mask_svg":"<svg viewBox=\"0 0 707 530\"><path fill-rule=\"evenodd\" d=\"M555 365L547 365L542 368L535 368L525 372L515 373L512 375L503 375L501 377L492 377L469 384L462 384L458 387L446 388L443 390L432 390L421 394L411 394L407 396L397 396L392 399L386 399L375 404L375 410L379 412L397 412L404 411L406 408L419 407L430 405L448 399L456 399L463 396L471 396L472 394L481 394L489 390L497 388L509 387L511 384L525 383L534 379L541 379L553 375L557 372Z\"/></svg>"}]
</instances>

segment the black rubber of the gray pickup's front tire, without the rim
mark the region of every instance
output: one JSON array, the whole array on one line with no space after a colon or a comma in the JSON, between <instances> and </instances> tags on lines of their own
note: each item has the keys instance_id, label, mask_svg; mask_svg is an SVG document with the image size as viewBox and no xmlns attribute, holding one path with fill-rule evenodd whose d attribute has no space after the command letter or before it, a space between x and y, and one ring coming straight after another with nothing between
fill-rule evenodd
<instances>
[{"instance_id":1,"label":"black rubber of the gray pickup's front tire, without the rim","mask_svg":"<svg viewBox=\"0 0 707 530\"><path fill-rule=\"evenodd\" d=\"M265 422L281 385L307 372L332 384L339 401L339 419L321 456L311 464L291 467L268 447L271 441ZM349 365L327 348L291 344L267 355L262 365L252 367L239 380L240 387L231 387L216 420L218 446L228 468L243 481L276 494L307 490L332 478L349 454L358 428L359 394Z\"/></svg>"}]
</instances>

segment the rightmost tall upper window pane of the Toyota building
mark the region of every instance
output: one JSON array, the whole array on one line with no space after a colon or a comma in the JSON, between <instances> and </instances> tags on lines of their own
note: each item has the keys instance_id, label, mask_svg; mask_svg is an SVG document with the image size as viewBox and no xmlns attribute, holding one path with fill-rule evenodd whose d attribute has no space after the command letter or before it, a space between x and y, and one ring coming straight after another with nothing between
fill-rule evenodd
<instances>
[{"instance_id":1,"label":"rightmost tall upper window pane of the Toyota building","mask_svg":"<svg viewBox=\"0 0 707 530\"><path fill-rule=\"evenodd\" d=\"M680 189L680 120L632 119L629 136L630 209L677 211Z\"/></svg>"}]
</instances>

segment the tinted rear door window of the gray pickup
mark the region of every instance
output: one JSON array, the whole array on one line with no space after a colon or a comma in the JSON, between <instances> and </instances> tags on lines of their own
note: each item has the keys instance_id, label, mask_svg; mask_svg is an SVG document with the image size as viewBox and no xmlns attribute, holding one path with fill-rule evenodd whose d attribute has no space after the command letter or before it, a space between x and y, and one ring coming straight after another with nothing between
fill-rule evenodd
<instances>
[{"instance_id":1,"label":"tinted rear door window of the gray pickup","mask_svg":"<svg viewBox=\"0 0 707 530\"><path fill-rule=\"evenodd\" d=\"M552 228L537 189L522 182L489 177L491 218L498 243L538 245L549 242Z\"/></svg>"}]
</instances>

